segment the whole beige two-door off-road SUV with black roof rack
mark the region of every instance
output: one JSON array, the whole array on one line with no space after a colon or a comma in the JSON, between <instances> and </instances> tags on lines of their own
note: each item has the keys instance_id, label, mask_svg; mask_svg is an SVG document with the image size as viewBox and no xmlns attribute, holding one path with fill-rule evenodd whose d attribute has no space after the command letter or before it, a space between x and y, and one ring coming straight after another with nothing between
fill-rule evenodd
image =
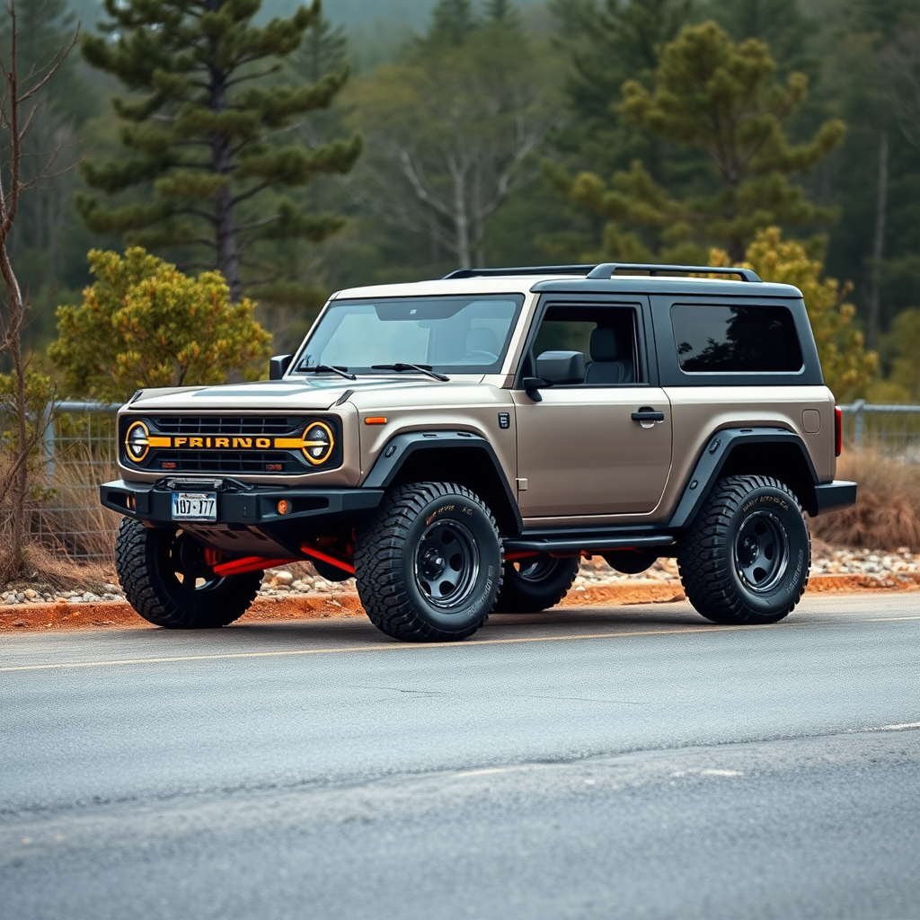
<instances>
[{"instance_id":1,"label":"whole beige two-door off-road SUV with black roof rack","mask_svg":"<svg viewBox=\"0 0 920 920\"><path fill-rule=\"evenodd\" d=\"M805 514L856 500L801 293L746 269L341 291L270 380L140 391L119 431L121 584L174 628L309 559L387 635L462 639L557 604L593 555L676 557L702 615L773 623L808 581Z\"/></svg>"}]
</instances>

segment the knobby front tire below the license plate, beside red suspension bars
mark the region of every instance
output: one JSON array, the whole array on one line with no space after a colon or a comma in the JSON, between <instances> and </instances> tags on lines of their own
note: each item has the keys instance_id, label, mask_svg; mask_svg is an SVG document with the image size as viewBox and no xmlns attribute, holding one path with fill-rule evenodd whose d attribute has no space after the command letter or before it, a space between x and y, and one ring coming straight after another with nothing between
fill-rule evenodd
<instances>
[{"instance_id":1,"label":"knobby front tire below the license plate, beside red suspension bars","mask_svg":"<svg viewBox=\"0 0 920 920\"><path fill-rule=\"evenodd\" d=\"M115 540L115 569L128 603L158 627L213 629L246 613L260 571L221 578L190 535L124 518Z\"/></svg>"}]
</instances>

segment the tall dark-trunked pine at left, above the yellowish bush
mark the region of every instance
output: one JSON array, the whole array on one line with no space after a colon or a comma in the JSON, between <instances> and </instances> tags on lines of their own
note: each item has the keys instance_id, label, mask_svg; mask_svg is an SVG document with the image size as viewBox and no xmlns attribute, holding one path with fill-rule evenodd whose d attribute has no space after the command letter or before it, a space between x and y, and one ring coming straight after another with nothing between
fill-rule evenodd
<instances>
[{"instance_id":1,"label":"tall dark-trunked pine at left, above the yellowish bush","mask_svg":"<svg viewBox=\"0 0 920 920\"><path fill-rule=\"evenodd\" d=\"M347 72L312 85L266 82L321 10L314 0L290 18L256 26L260 6L261 0L105 0L109 36L87 35L82 47L89 63L132 92L113 103L132 155L87 162L84 178L112 195L135 194L114 206L82 195L81 216L92 230L121 233L135 245L205 247L211 255L198 264L221 271L235 302L244 283L277 275L259 244L319 241L343 223L303 213L283 190L348 172L362 148L358 136L312 149L276 140L294 121L327 108ZM259 274L244 278L241 268ZM291 286L283 290L290 300ZM270 298L270 289L260 295Z\"/></svg>"}]
</instances>

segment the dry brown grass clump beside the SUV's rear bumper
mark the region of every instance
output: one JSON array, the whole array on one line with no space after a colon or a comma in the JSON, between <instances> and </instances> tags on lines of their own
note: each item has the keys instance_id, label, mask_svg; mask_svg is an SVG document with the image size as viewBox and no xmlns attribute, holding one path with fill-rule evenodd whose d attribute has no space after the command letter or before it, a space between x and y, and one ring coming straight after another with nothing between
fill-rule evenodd
<instances>
[{"instance_id":1,"label":"dry brown grass clump beside the SUV's rear bumper","mask_svg":"<svg viewBox=\"0 0 920 920\"><path fill-rule=\"evenodd\" d=\"M837 478L856 480L857 504L812 521L814 535L834 546L920 550L920 466L864 449L840 458Z\"/></svg>"}]
</instances>

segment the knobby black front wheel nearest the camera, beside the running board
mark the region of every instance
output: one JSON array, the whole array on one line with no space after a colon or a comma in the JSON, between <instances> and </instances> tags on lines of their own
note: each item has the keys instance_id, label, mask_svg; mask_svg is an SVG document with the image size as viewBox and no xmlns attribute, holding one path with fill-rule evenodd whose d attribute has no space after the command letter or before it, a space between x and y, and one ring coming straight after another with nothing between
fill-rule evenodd
<instances>
[{"instance_id":1,"label":"knobby black front wheel nearest the camera, beside the running board","mask_svg":"<svg viewBox=\"0 0 920 920\"><path fill-rule=\"evenodd\" d=\"M445 482L392 489L354 553L371 622L408 642L472 636L495 605L501 562L489 508L465 486Z\"/></svg>"}]
</instances>

